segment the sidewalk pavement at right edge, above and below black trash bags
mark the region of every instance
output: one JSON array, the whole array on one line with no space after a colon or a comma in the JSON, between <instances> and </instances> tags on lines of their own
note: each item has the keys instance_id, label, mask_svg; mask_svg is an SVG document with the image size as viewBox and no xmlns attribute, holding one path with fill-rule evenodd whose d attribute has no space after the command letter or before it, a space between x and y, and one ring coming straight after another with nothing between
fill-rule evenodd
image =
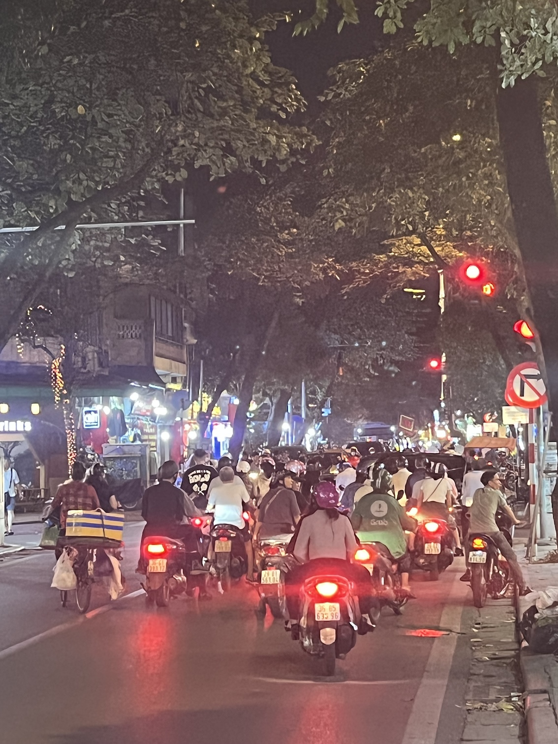
<instances>
[{"instance_id":1,"label":"sidewalk pavement at right edge, above and below black trash bags","mask_svg":"<svg viewBox=\"0 0 558 744\"><path fill-rule=\"evenodd\" d=\"M558 586L558 563L527 563L525 545L519 541L514 547L525 580L533 590ZM539 546L536 561L556 551L556 545ZM525 597L519 597L517 620L529 606ZM519 654L525 696L528 744L558 743L558 657L554 654L536 654L525 641Z\"/></svg>"}]
</instances>

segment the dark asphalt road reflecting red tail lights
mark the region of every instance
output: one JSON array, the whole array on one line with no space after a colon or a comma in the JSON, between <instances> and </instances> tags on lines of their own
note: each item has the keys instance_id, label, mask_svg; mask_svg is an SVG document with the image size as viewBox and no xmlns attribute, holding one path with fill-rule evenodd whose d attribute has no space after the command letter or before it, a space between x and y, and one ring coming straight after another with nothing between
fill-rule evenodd
<instances>
[{"instance_id":1,"label":"dark asphalt road reflecting red tail lights","mask_svg":"<svg viewBox=\"0 0 558 744\"><path fill-rule=\"evenodd\" d=\"M126 525L129 592L141 526ZM109 604L99 589L81 618L49 587L51 554L11 558L0 565L0 741L458 743L469 667L459 631L473 618L462 561L437 583L420 574L417 600L399 618L384 611L326 681L283 623L257 620L248 586L169 609L137 595Z\"/></svg>"}]
</instances>

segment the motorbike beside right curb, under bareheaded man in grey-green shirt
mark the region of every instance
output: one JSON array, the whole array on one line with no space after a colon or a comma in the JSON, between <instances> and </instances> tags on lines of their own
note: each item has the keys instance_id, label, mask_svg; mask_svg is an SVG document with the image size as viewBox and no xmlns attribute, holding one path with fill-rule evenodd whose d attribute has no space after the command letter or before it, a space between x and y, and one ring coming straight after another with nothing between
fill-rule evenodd
<instances>
[{"instance_id":1,"label":"motorbike beside right curb, under bareheaded man in grey-green shirt","mask_svg":"<svg viewBox=\"0 0 558 744\"><path fill-rule=\"evenodd\" d=\"M510 517L498 510L496 524L507 542L513 545L514 527ZM501 556L490 536L472 533L468 541L472 601L475 607L484 607L489 594L495 600L507 595L513 577L507 560Z\"/></svg>"}]
</instances>

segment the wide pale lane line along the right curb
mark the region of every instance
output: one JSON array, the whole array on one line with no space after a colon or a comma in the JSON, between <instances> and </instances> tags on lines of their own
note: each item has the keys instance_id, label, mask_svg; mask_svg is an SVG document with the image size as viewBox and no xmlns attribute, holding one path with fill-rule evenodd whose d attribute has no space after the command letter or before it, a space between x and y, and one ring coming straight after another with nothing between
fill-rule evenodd
<instances>
[{"instance_id":1,"label":"wide pale lane line along the right curb","mask_svg":"<svg viewBox=\"0 0 558 744\"><path fill-rule=\"evenodd\" d=\"M456 571L447 597L448 603L440 618L440 627L452 629L454 632L451 635L441 635L432 644L401 744L434 744L436 741L449 672L458 634L461 631L463 590L464 584L459 582L459 574Z\"/></svg>"}]
</instances>

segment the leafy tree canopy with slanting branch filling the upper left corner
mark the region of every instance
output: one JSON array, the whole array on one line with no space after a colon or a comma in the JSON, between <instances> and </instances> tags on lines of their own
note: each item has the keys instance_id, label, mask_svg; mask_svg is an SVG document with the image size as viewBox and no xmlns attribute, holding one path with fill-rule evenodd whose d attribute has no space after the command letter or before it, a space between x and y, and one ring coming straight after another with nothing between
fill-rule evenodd
<instances>
[{"instance_id":1,"label":"leafy tree canopy with slanting branch filling the upper left corner","mask_svg":"<svg viewBox=\"0 0 558 744\"><path fill-rule=\"evenodd\" d=\"M263 43L275 20L243 0L5 4L0 218L38 229L0 250L0 347L80 245L78 222L141 219L123 198L196 168L284 169L314 142L284 121L304 101Z\"/></svg>"}]
</instances>

